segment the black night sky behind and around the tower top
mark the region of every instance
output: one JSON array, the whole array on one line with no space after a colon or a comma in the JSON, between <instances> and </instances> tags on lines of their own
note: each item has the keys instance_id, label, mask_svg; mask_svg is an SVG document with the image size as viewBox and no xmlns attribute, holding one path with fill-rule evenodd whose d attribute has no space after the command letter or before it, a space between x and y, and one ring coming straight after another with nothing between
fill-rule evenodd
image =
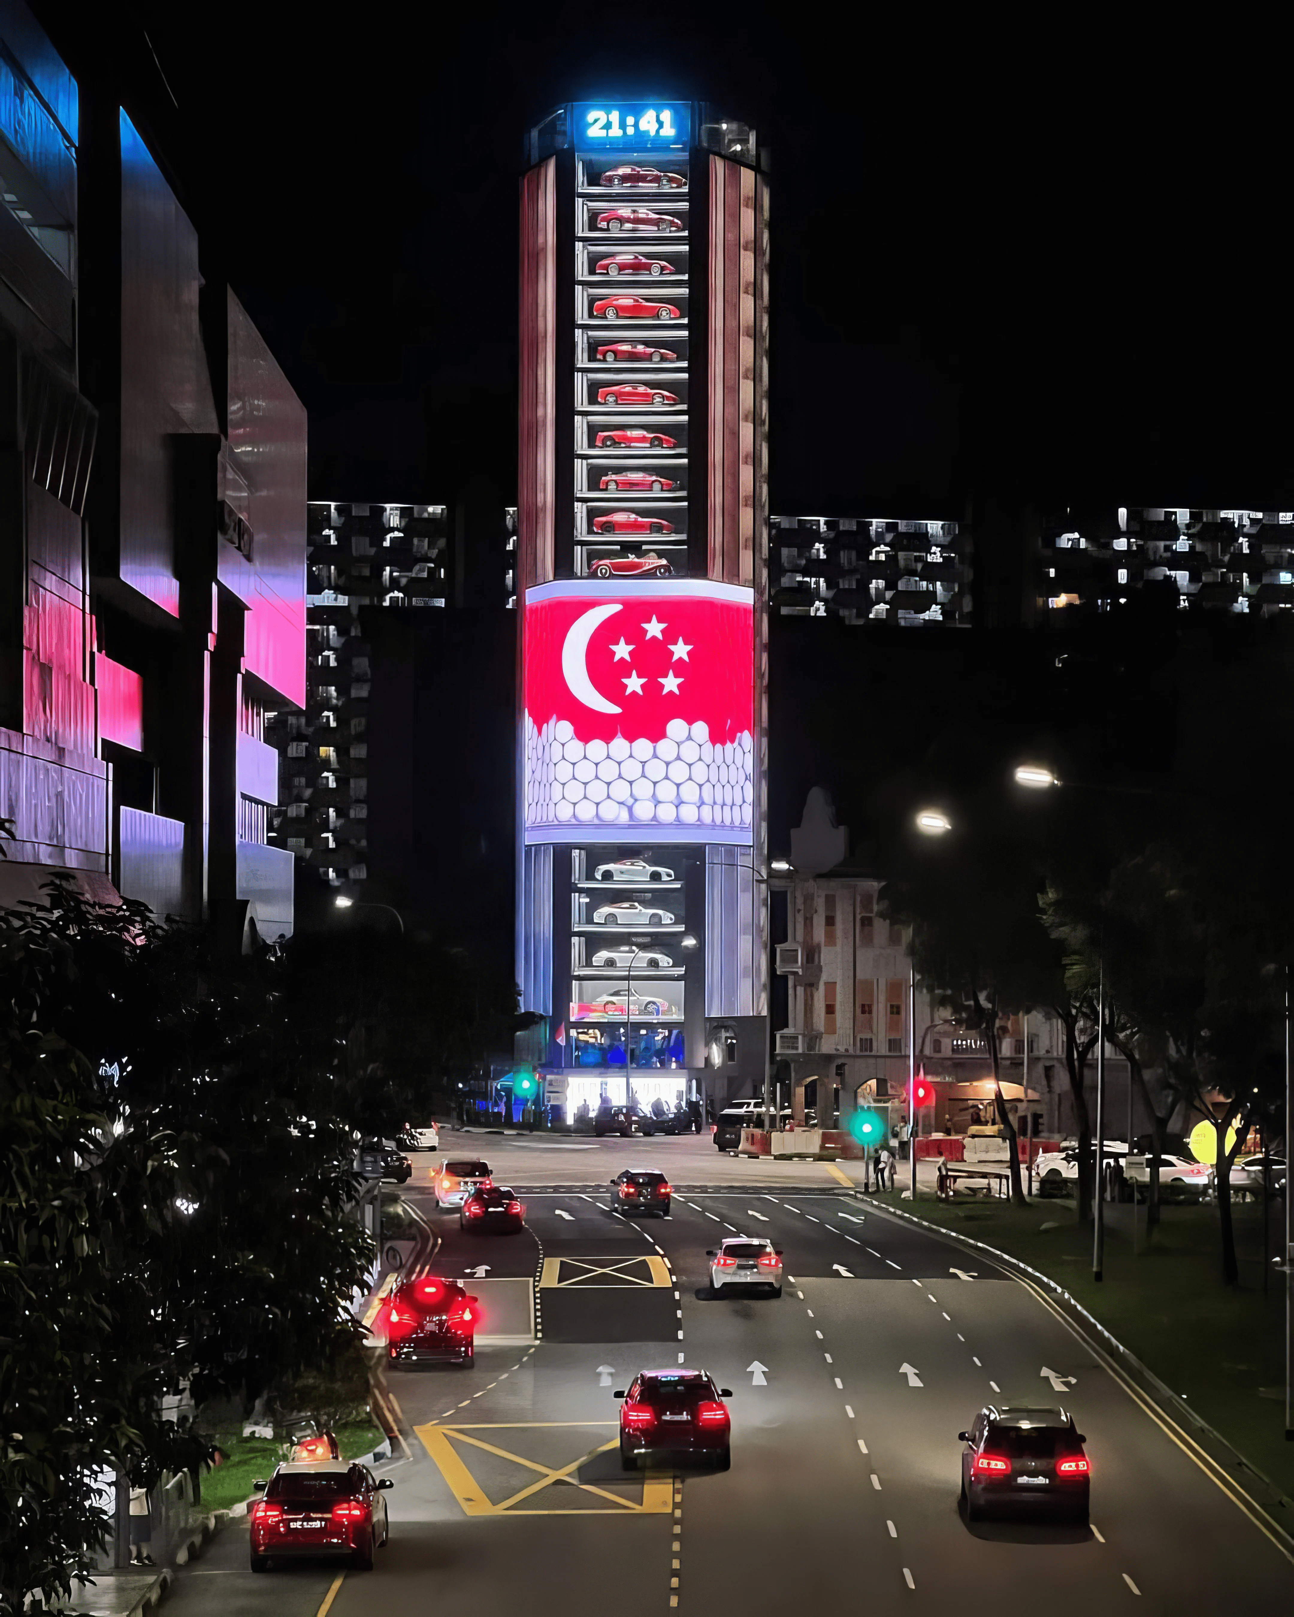
<instances>
[{"instance_id":1,"label":"black night sky behind and around the tower top","mask_svg":"<svg viewBox=\"0 0 1294 1617\"><path fill-rule=\"evenodd\" d=\"M65 49L103 26L40 11ZM315 498L514 496L520 136L641 92L772 150L774 511L1294 505L1275 40L788 3L118 16L309 406Z\"/></svg>"}]
</instances>

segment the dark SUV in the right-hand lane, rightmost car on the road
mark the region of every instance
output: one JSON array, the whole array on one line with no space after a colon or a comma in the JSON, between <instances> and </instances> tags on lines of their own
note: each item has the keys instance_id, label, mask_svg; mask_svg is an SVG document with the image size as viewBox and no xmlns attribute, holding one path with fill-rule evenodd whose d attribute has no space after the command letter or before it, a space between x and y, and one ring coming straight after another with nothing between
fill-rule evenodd
<instances>
[{"instance_id":1,"label":"dark SUV in the right-hand lane, rightmost car on the road","mask_svg":"<svg viewBox=\"0 0 1294 1617\"><path fill-rule=\"evenodd\" d=\"M960 1431L961 1504L968 1522L1006 1512L1042 1512L1087 1526L1090 1465L1087 1439L1068 1410L985 1404Z\"/></svg>"}]
</instances>

